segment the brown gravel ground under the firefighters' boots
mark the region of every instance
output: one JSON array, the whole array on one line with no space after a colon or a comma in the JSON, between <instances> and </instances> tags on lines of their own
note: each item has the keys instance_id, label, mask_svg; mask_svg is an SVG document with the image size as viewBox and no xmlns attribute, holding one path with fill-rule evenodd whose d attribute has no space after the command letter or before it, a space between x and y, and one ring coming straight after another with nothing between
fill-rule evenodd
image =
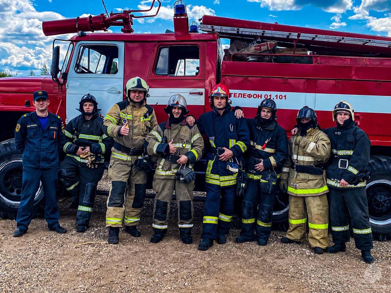
<instances>
[{"instance_id":1,"label":"brown gravel ground under the firefighters' boots","mask_svg":"<svg viewBox=\"0 0 391 293\"><path fill-rule=\"evenodd\" d=\"M100 188L108 188L106 177ZM61 224L67 234L47 229L34 219L21 238L13 238L16 223L0 220L0 292L390 292L391 242L375 242L375 264L360 259L354 241L347 252L314 255L308 242L283 245L284 233L273 231L266 247L237 244L240 220L235 216L225 245L197 250L203 203L195 203L194 243L181 243L176 228L178 210L172 203L169 232L152 244L153 200L146 200L142 237L121 232L119 245L108 245L104 228L106 197L98 196L90 229L75 231L75 210L69 198L59 200ZM93 242L87 244L89 242Z\"/></svg>"}]
</instances>

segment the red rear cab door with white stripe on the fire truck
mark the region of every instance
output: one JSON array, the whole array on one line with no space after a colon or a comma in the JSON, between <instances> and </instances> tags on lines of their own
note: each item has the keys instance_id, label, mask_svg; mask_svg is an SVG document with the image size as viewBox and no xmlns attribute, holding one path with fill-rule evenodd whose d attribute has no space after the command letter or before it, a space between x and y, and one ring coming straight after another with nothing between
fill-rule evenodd
<instances>
[{"instance_id":1,"label":"red rear cab door with white stripe on the fire truck","mask_svg":"<svg viewBox=\"0 0 391 293\"><path fill-rule=\"evenodd\" d=\"M205 108L205 42L160 43L155 48L155 64L148 74L148 104L167 105L170 96L181 94L188 110L195 117ZM163 109L161 109L163 110ZM158 121L167 119L163 111L156 111Z\"/></svg>"}]
</instances>

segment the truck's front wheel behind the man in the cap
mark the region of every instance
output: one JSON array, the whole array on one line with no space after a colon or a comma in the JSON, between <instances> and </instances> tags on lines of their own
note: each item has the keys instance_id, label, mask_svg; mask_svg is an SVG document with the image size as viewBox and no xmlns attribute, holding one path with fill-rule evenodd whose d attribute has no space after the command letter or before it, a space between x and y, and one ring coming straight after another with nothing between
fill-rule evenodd
<instances>
[{"instance_id":1,"label":"truck's front wheel behind the man in the cap","mask_svg":"<svg viewBox=\"0 0 391 293\"><path fill-rule=\"evenodd\" d=\"M22 154L15 148L15 140L0 143L0 218L14 220L22 193ZM34 213L40 214L43 189L39 186L34 199Z\"/></svg>"}]
</instances>

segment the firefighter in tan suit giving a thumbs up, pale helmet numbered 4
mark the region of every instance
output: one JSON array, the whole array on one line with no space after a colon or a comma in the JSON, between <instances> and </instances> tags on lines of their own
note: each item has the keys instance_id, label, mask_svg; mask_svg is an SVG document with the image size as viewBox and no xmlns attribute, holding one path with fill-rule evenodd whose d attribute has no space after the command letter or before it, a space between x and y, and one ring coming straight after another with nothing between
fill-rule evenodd
<instances>
[{"instance_id":1,"label":"firefighter in tan suit giving a thumbs up, pale helmet numbered 4","mask_svg":"<svg viewBox=\"0 0 391 293\"><path fill-rule=\"evenodd\" d=\"M113 105L103 121L103 131L114 138L108 169L111 188L107 200L106 227L109 243L119 242L119 229L140 237L137 229L145 198L149 157L144 154L147 134L158 125L152 107L146 104L147 83L140 77L126 82L126 100Z\"/></svg>"}]
</instances>

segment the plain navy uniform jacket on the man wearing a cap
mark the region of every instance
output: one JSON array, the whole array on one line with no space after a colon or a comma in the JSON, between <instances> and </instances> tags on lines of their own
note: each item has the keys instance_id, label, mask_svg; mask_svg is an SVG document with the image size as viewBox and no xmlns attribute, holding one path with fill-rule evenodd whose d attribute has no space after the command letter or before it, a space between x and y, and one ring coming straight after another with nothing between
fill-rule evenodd
<instances>
[{"instance_id":1,"label":"plain navy uniform jacket on the man wearing a cap","mask_svg":"<svg viewBox=\"0 0 391 293\"><path fill-rule=\"evenodd\" d=\"M58 167L59 150L65 145L63 122L60 116L48 113L49 120L42 131L37 113L24 114L16 124L16 149L23 152L25 168L49 169Z\"/></svg>"}]
</instances>

